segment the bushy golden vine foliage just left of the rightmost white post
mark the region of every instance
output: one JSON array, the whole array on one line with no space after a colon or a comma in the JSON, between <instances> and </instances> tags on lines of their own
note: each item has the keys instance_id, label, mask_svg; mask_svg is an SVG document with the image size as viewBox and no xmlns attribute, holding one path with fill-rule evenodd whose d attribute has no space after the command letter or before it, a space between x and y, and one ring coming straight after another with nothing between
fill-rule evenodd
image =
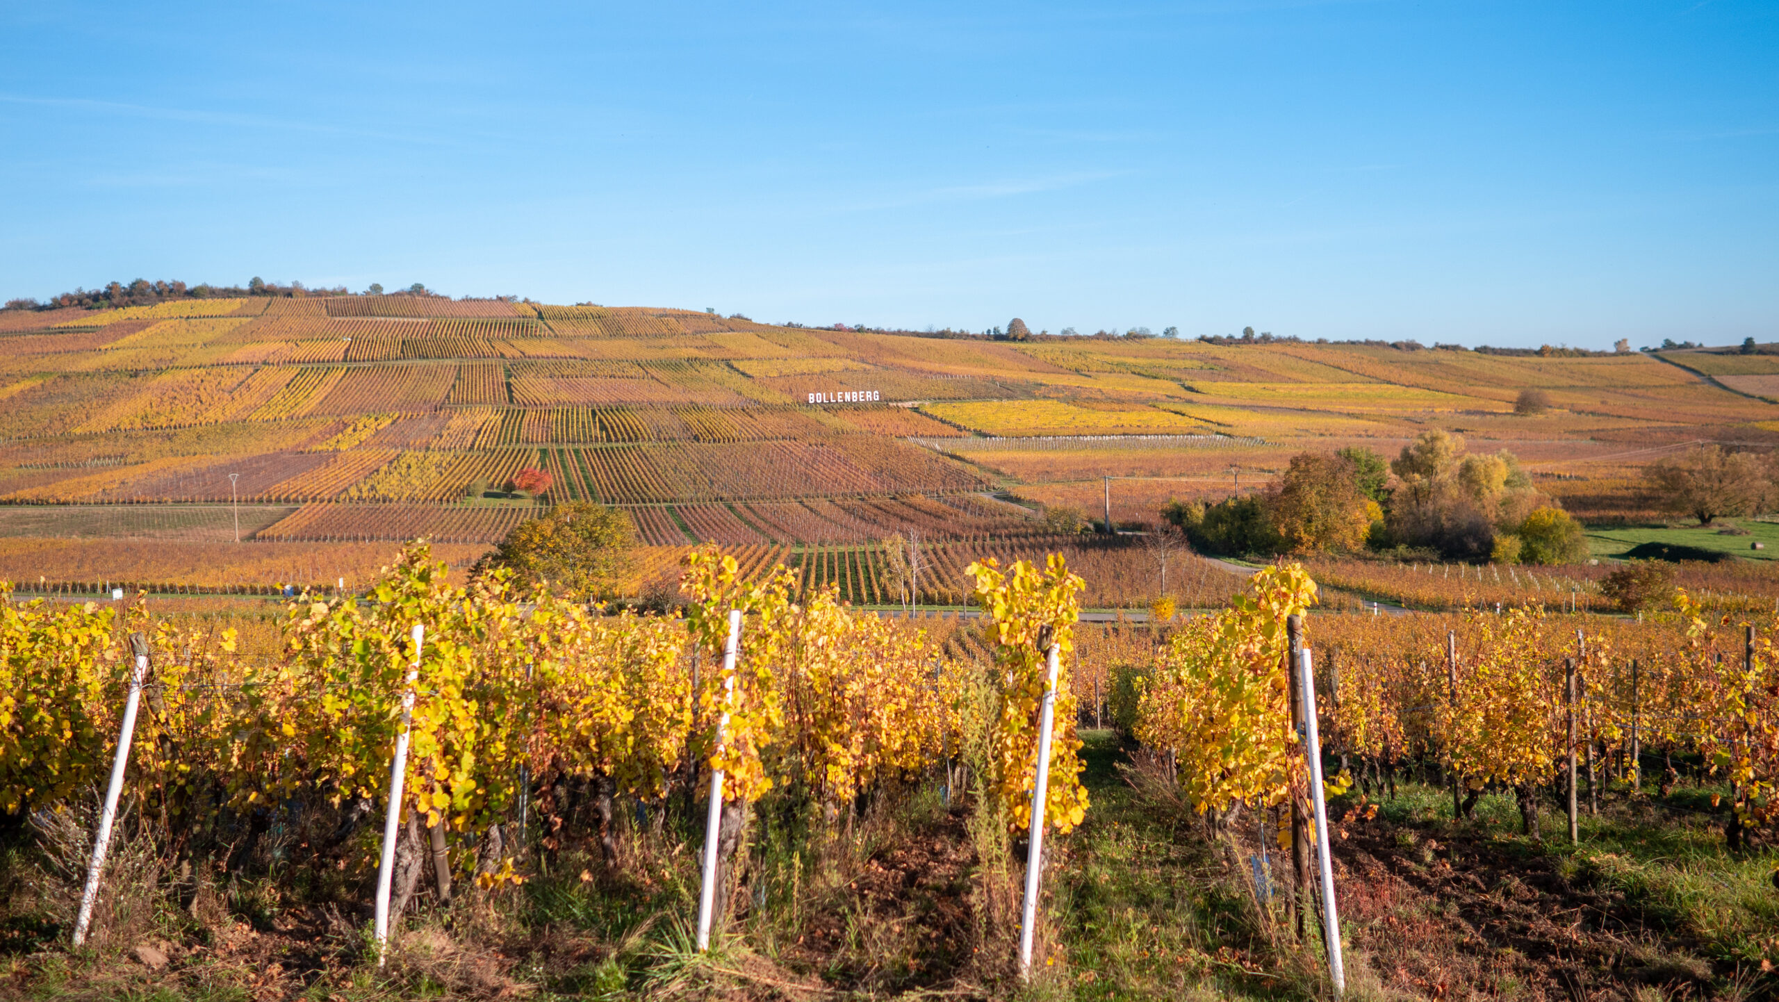
<instances>
[{"instance_id":1,"label":"bushy golden vine foliage just left of the rightmost white post","mask_svg":"<svg viewBox=\"0 0 1779 1002\"><path fill-rule=\"evenodd\" d=\"M1304 788L1284 619L1315 600L1300 564L1265 568L1247 594L1188 623L1156 657L1139 694L1137 737L1174 751L1201 813L1236 801L1272 806Z\"/></svg>"}]
</instances>

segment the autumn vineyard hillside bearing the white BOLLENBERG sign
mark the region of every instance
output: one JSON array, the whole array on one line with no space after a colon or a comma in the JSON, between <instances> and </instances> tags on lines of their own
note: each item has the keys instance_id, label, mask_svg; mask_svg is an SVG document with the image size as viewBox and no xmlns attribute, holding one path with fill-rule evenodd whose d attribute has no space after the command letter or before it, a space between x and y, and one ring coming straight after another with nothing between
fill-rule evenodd
<instances>
[{"instance_id":1,"label":"autumn vineyard hillside bearing the white BOLLENBERG sign","mask_svg":"<svg viewBox=\"0 0 1779 1002\"><path fill-rule=\"evenodd\" d=\"M1578 516L1622 521L1647 514L1626 468L1647 450L1774 436L1779 406L1731 392L1738 376L1761 377L1642 354L991 342L413 295L9 310L0 573L208 584L228 557L107 571L112 550L73 541L233 545L231 502L260 546L431 536L473 552L537 504L591 498L651 546L749 546L868 602L884 596L859 545L895 532L1035 541L1042 505L1098 516L1103 477L1121 477L1114 520L1144 521L1169 497L1251 489L1302 448L1393 454L1427 427L1510 448ZM1525 388L1555 408L1516 416ZM553 486L505 497L527 466ZM365 573L295 552L285 566L276 580Z\"/></svg>"}]
</instances>

